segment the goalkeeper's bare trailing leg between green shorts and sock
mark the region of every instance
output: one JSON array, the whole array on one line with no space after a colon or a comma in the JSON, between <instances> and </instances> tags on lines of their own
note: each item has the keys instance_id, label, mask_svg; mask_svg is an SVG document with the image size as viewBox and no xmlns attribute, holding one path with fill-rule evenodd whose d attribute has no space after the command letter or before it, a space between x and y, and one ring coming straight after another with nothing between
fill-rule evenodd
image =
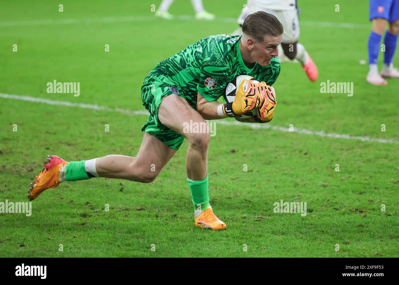
<instances>
[{"instance_id":1,"label":"goalkeeper's bare trailing leg between green shorts and sock","mask_svg":"<svg viewBox=\"0 0 399 285\"><path fill-rule=\"evenodd\" d=\"M176 150L162 143L153 135L144 133L135 157L107 155L97 159L99 177L120 178L137 182L152 182Z\"/></svg>"}]
</instances>

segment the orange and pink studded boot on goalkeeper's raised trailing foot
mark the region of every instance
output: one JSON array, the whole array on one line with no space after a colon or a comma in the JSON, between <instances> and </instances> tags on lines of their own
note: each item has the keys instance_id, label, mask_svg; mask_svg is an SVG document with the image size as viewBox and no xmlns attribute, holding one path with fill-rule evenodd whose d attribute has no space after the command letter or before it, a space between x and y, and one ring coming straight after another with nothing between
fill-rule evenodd
<instances>
[{"instance_id":1,"label":"orange and pink studded boot on goalkeeper's raised trailing foot","mask_svg":"<svg viewBox=\"0 0 399 285\"><path fill-rule=\"evenodd\" d=\"M30 183L28 191L28 199L35 200L41 192L48 188L55 188L59 183L59 170L68 162L59 158L56 155L47 155L47 160L44 162L43 170L39 175L35 176L35 181Z\"/></svg>"}]
</instances>

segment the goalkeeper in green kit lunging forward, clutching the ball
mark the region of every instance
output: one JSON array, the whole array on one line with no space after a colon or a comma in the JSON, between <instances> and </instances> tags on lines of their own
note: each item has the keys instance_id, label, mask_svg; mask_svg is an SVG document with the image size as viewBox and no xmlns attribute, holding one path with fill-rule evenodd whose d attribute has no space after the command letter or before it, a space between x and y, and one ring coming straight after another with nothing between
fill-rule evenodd
<instances>
[{"instance_id":1,"label":"goalkeeper in green kit lunging forward, clutching the ball","mask_svg":"<svg viewBox=\"0 0 399 285\"><path fill-rule=\"evenodd\" d=\"M272 119L276 99L273 87L280 63L277 46L283 28L272 14L256 12L242 26L243 36L209 36L158 63L144 79L143 105L150 117L135 157L107 155L90 160L66 162L47 156L43 171L28 191L34 200L44 190L63 181L94 177L119 178L142 183L154 181L166 163L188 141L187 181L194 204L195 225L212 230L226 228L209 204L207 152L210 134L184 133L184 123L204 124L205 120L236 117L239 121L265 123ZM243 80L235 101L221 104L217 99L236 75L250 75L260 83ZM257 116L239 116L257 108Z\"/></svg>"}]
</instances>

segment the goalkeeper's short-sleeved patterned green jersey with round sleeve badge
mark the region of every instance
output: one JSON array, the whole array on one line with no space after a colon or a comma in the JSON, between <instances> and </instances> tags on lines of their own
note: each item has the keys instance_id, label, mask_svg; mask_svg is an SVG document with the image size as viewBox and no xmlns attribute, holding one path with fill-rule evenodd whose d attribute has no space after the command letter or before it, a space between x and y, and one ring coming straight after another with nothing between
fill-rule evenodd
<instances>
[{"instance_id":1,"label":"goalkeeper's short-sleeved patterned green jersey with round sleeve badge","mask_svg":"<svg viewBox=\"0 0 399 285\"><path fill-rule=\"evenodd\" d=\"M251 75L268 85L275 83L280 73L279 60L273 58L268 66L255 63L249 69L241 57L240 39L241 36L217 35L199 40L158 63L146 81L154 82L156 78L163 86L170 86L172 93L184 97L194 109L197 92L207 101L216 101L237 75Z\"/></svg>"}]
</instances>

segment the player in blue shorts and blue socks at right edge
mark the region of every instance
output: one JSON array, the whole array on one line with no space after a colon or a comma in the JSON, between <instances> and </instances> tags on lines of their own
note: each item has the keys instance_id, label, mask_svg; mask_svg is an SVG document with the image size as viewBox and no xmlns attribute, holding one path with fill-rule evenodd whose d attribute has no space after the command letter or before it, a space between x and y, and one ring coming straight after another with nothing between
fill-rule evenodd
<instances>
[{"instance_id":1,"label":"player in blue shorts and blue socks at right edge","mask_svg":"<svg viewBox=\"0 0 399 285\"><path fill-rule=\"evenodd\" d=\"M387 85L388 82L383 77L399 78L399 71L393 68L393 55L399 34L399 0L370 0L370 21L372 21L373 26L367 45L370 69L366 80L374 85ZM384 37L384 63L381 75L379 75L378 54L387 22L389 22L389 28Z\"/></svg>"}]
</instances>

